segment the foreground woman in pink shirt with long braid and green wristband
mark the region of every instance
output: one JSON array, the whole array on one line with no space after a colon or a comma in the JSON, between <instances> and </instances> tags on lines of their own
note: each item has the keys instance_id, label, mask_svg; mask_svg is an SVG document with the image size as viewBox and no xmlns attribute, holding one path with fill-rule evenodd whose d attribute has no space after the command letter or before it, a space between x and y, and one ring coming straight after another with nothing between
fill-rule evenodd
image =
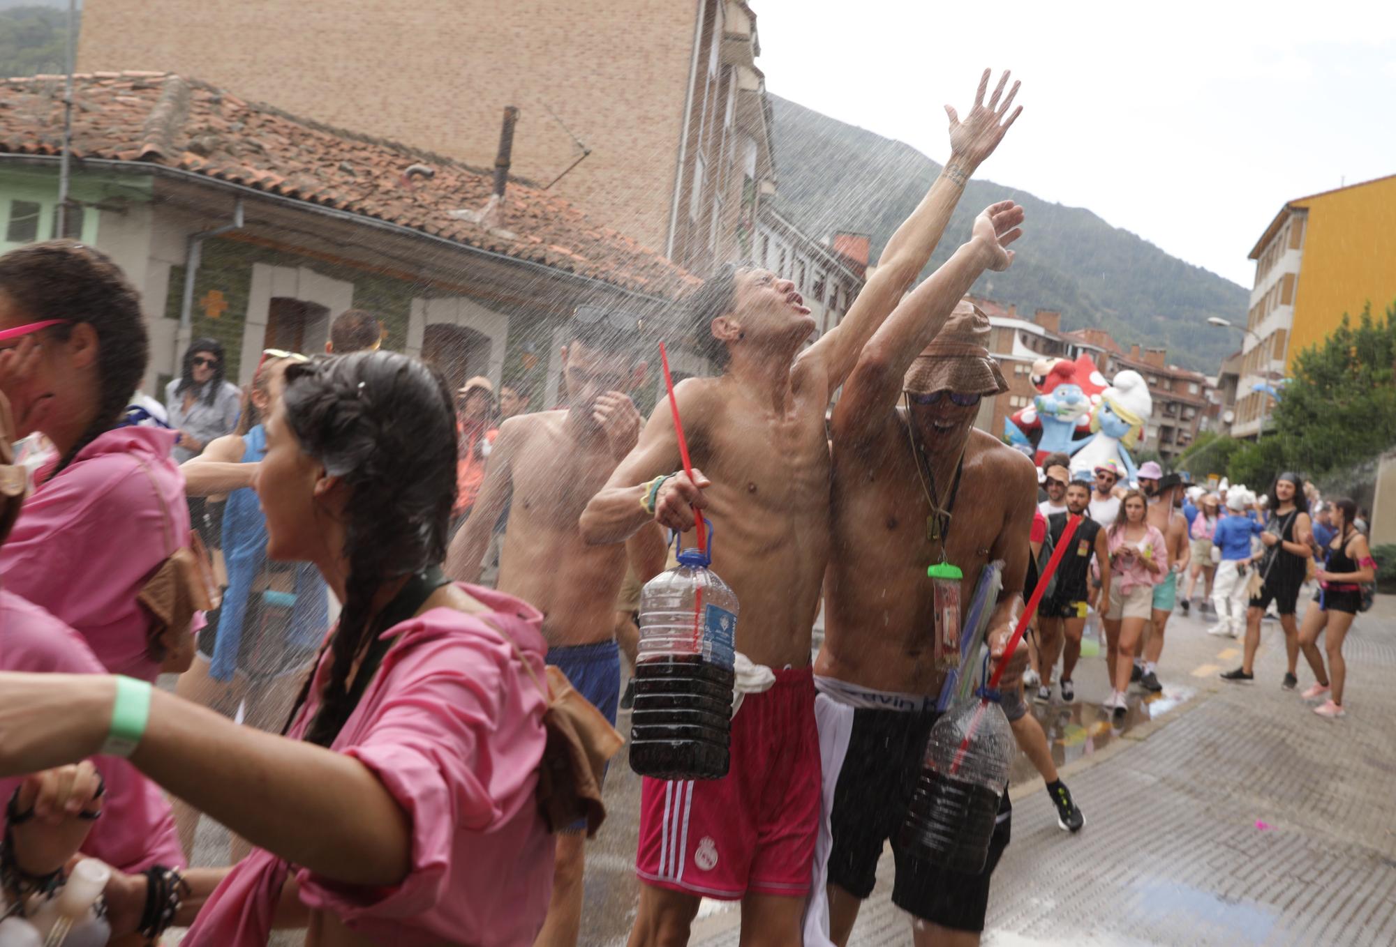
<instances>
[{"instance_id":1,"label":"foreground woman in pink shirt with long braid and green wristband","mask_svg":"<svg viewBox=\"0 0 1396 947\"><path fill-rule=\"evenodd\" d=\"M396 353L292 365L255 487L268 555L314 562L343 611L289 739L149 693L131 762L258 847L172 888L183 943L261 946L288 926L315 947L526 947L553 877L536 798L546 644L532 607L441 577L450 392ZM91 753L117 688L0 674L0 774ZM148 890L113 880L114 932Z\"/></svg>"}]
</instances>

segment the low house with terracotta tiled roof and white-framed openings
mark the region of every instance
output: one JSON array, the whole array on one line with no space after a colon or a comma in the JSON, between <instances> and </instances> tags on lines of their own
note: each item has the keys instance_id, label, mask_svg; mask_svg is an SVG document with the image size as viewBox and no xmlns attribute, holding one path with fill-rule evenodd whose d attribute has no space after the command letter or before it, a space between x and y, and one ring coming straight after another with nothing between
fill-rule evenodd
<instances>
[{"instance_id":1,"label":"low house with terracotta tiled roof and white-framed openings","mask_svg":"<svg viewBox=\"0 0 1396 947\"><path fill-rule=\"evenodd\" d=\"M141 290L148 392L191 336L222 340L228 377L246 382L264 347L318 351L329 319L357 307L383 318L388 347L450 381L508 378L551 404L578 303L663 329L697 285L553 192L510 181L482 223L490 176L204 82L80 74L74 93L70 236ZM0 251L53 233L61 98L61 77L0 82ZM704 368L681 350L674 363Z\"/></svg>"}]
</instances>

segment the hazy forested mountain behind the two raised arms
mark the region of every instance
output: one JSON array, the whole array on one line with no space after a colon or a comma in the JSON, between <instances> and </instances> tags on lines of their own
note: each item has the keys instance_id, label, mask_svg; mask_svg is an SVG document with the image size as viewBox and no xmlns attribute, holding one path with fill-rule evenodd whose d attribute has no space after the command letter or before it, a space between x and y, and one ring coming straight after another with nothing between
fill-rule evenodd
<instances>
[{"instance_id":1,"label":"hazy forested mountain behind the two raised arms","mask_svg":"<svg viewBox=\"0 0 1396 947\"><path fill-rule=\"evenodd\" d=\"M872 237L874 258L940 174L910 145L845 124L779 96L775 113L776 205L805 233L853 230ZM974 293L1019 312L1061 310L1064 329L1097 326L1128 351L1163 346L1173 364L1215 374L1237 349L1231 332L1206 325L1220 315L1244 325L1248 290L1170 257L1083 208L1048 204L1026 191L974 180L927 272L969 237L974 215L1012 198L1027 212L1018 257L1005 273L984 273Z\"/></svg>"}]
</instances>

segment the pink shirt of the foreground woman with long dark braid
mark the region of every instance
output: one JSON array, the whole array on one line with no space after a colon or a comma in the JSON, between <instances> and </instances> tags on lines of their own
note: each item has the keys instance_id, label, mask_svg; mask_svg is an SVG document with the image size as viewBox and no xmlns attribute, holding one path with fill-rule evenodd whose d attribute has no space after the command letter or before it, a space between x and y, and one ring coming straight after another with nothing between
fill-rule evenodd
<instances>
[{"instance_id":1,"label":"pink shirt of the foreground woman with long dark braid","mask_svg":"<svg viewBox=\"0 0 1396 947\"><path fill-rule=\"evenodd\" d=\"M462 587L494 612L490 619L544 681L542 614L511 596ZM535 801L543 696L508 642L470 615L436 608L384 636L399 637L332 749L373 770L412 820L406 879L387 888L342 884L253 849L200 911L184 947L265 944L290 873L303 904L370 943L533 943L553 881L554 840ZM311 693L322 692L329 665L327 653ZM317 697L307 702L292 738L306 732L317 707Z\"/></svg>"}]
</instances>

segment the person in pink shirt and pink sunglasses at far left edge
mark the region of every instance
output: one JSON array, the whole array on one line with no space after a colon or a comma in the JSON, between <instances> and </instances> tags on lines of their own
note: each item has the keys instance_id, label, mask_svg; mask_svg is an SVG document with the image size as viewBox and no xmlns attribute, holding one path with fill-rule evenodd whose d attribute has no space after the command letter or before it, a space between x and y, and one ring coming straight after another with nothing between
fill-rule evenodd
<instances>
[{"instance_id":1,"label":"person in pink shirt and pink sunglasses at far left edge","mask_svg":"<svg viewBox=\"0 0 1396 947\"><path fill-rule=\"evenodd\" d=\"M0 392L15 437L46 435L10 541L6 587L87 639L113 674L155 681L193 660L190 629L151 640L137 594L188 541L179 432L127 423L148 342L137 291L102 252L67 240L0 257Z\"/></svg>"}]
</instances>

